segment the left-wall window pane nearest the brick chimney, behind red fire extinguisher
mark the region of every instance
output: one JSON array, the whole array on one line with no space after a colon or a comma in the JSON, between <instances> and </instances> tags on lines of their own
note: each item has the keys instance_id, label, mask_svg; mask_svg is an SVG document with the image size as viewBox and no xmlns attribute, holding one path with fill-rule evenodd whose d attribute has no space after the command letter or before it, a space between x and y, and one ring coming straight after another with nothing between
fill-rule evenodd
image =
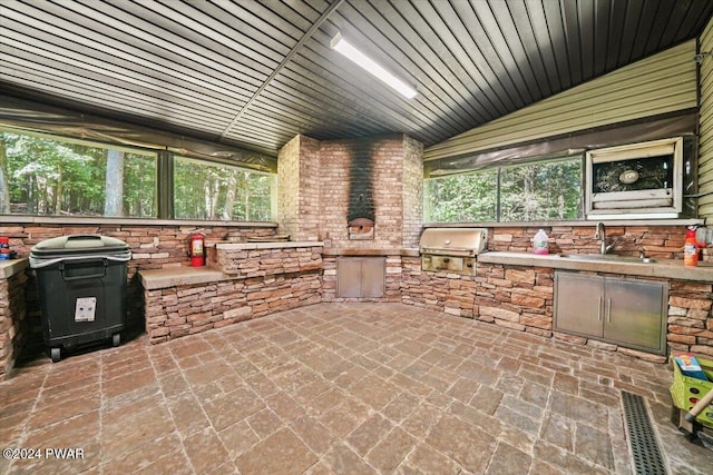
<instances>
[{"instance_id":1,"label":"left-wall window pane nearest the brick chimney, behind red fire extinguisher","mask_svg":"<svg viewBox=\"0 0 713 475\"><path fill-rule=\"evenodd\" d=\"M175 217L268 221L274 186L272 174L176 157Z\"/></svg>"}]
</instances>

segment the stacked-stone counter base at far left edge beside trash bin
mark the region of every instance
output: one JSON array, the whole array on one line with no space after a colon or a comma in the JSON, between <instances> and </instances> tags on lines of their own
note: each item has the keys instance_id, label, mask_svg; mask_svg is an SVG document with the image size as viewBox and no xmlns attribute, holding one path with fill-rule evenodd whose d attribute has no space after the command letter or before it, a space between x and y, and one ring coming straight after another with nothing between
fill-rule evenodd
<instances>
[{"instance_id":1,"label":"stacked-stone counter base at far left edge beside trash bin","mask_svg":"<svg viewBox=\"0 0 713 475\"><path fill-rule=\"evenodd\" d=\"M28 338L23 270L0 279L0 380L9 378Z\"/></svg>"}]
</instances>

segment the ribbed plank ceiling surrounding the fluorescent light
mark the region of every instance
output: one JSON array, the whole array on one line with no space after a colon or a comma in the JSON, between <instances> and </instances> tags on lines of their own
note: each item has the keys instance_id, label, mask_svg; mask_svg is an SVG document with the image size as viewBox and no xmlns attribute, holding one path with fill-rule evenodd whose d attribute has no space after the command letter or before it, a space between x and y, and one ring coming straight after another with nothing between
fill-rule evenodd
<instances>
[{"instance_id":1,"label":"ribbed plank ceiling surrounding the fluorescent light","mask_svg":"<svg viewBox=\"0 0 713 475\"><path fill-rule=\"evenodd\" d=\"M709 0L2 0L0 92L273 156L297 133L430 146L695 38L712 12ZM338 31L418 96L330 49Z\"/></svg>"}]
</instances>

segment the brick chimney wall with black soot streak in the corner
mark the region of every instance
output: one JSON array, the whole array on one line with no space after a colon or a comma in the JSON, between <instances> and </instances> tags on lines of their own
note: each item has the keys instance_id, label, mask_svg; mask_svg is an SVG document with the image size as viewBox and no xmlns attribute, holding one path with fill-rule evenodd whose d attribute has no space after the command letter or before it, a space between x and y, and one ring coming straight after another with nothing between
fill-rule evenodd
<instances>
[{"instance_id":1,"label":"brick chimney wall with black soot streak in the corner","mask_svg":"<svg viewBox=\"0 0 713 475\"><path fill-rule=\"evenodd\" d=\"M422 145L403 135L323 141L294 138L279 156L280 231L293 240L323 240L336 248L418 246L422 154ZM356 155L363 166L353 162ZM373 206L373 239L350 240L350 202L355 199L351 187L364 184L370 186L365 199Z\"/></svg>"}]
</instances>

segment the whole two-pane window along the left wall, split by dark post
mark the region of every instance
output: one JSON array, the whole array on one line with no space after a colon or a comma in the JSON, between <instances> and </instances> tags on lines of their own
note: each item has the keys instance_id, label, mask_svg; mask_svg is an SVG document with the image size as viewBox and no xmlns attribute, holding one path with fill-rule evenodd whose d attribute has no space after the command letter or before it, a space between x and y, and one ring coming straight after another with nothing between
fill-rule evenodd
<instances>
[{"instance_id":1,"label":"whole two-pane window along the left wall, split by dark post","mask_svg":"<svg viewBox=\"0 0 713 475\"><path fill-rule=\"evenodd\" d=\"M164 219L273 219L275 174L164 159L172 166L150 150L0 130L0 215L158 218L164 196L173 201ZM158 192L159 180L173 195Z\"/></svg>"}]
</instances>

